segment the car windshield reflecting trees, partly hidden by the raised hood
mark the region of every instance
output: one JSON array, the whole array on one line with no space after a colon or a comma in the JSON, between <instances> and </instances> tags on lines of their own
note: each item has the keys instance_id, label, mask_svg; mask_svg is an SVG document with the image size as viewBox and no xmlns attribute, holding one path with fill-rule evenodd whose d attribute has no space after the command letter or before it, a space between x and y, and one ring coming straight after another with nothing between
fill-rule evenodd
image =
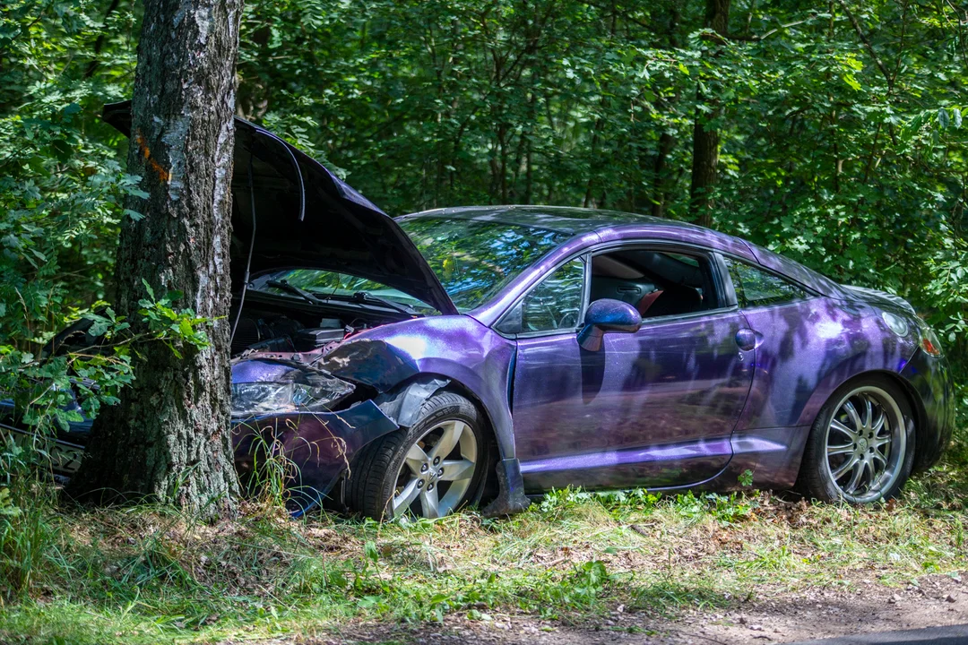
<instances>
[{"instance_id":1,"label":"car windshield reflecting trees, partly hidden by the raised hood","mask_svg":"<svg viewBox=\"0 0 968 645\"><path fill-rule=\"evenodd\" d=\"M400 226L437 274L459 311L480 307L549 250L568 239L566 233L500 221L412 218ZM320 297L348 297L363 291L420 313L433 313L426 303L373 280L318 269L289 269L253 281L252 288L292 295L271 281Z\"/></svg>"}]
</instances>

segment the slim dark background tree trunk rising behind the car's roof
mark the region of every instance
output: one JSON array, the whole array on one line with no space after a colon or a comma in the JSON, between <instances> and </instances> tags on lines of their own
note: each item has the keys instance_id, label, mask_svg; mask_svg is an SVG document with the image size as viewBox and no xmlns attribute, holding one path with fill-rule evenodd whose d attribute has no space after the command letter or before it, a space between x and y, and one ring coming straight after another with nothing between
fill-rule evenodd
<instances>
[{"instance_id":1,"label":"slim dark background tree trunk rising behind the car's roof","mask_svg":"<svg viewBox=\"0 0 968 645\"><path fill-rule=\"evenodd\" d=\"M729 35L730 0L706 0L707 27L726 38ZM716 54L713 53L713 57ZM701 89L696 89L696 104L706 103ZM711 111L704 114L696 109L692 128L692 183L689 186L689 214L701 226L712 223L712 191L716 185L716 165L719 163L719 131L711 125L720 115L719 102L709 100Z\"/></svg>"}]
</instances>

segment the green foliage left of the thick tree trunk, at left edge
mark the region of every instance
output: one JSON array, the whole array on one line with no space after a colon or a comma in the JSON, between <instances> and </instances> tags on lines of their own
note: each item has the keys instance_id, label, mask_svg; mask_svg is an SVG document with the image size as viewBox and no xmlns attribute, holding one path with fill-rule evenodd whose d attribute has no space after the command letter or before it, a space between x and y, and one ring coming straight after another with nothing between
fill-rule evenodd
<instances>
[{"instance_id":1,"label":"green foliage left of the thick tree trunk, at left edge","mask_svg":"<svg viewBox=\"0 0 968 645\"><path fill-rule=\"evenodd\" d=\"M8 480L49 458L46 434L118 400L144 339L102 300L118 222L142 217L120 206L142 194L139 180L117 161L120 135L97 118L130 89L134 16L117 3L102 11L87 0L0 8L0 393L11 396L0 407L39 432L35 450L5 464ZM149 294L139 311L148 337L175 351L205 343L205 321L172 308L179 294ZM54 355L54 335L75 321L83 341Z\"/></svg>"}]
</instances>

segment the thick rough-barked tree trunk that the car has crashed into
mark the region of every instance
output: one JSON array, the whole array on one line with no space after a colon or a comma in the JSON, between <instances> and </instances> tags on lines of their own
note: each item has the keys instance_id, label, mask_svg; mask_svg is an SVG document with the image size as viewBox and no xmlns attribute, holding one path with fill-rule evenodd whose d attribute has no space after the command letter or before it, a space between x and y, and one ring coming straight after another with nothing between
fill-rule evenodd
<instances>
[{"instance_id":1,"label":"thick rough-barked tree trunk that the car has crashed into","mask_svg":"<svg viewBox=\"0 0 968 645\"><path fill-rule=\"evenodd\" d=\"M240 13L240 0L145 3L128 168L148 197L125 204L145 217L121 227L116 309L144 331L144 279L215 322L209 346L180 358L157 341L136 347L136 381L97 420L77 493L131 493L208 518L234 510L227 313Z\"/></svg>"}]
</instances>

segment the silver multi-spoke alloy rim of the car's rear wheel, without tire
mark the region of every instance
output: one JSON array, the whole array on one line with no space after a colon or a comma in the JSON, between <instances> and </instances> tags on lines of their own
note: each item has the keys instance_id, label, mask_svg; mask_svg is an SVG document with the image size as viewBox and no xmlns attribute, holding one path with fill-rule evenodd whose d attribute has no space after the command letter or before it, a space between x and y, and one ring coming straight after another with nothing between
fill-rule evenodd
<instances>
[{"instance_id":1,"label":"silver multi-spoke alloy rim of the car's rear wheel, without tire","mask_svg":"<svg viewBox=\"0 0 968 645\"><path fill-rule=\"evenodd\" d=\"M900 475L907 450L904 416L884 390L863 386L834 408L827 430L827 468L841 497L873 502Z\"/></svg>"}]
</instances>

